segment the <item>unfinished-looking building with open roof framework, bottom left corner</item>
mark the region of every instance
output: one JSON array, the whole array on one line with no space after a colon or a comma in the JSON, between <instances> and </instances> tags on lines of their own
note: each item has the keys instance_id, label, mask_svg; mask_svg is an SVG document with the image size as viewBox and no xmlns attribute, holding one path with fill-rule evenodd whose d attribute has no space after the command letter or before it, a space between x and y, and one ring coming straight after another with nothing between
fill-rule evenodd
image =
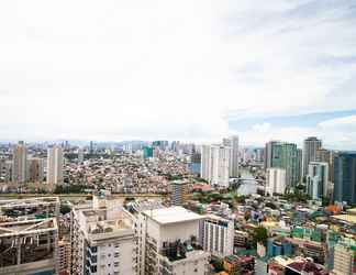
<instances>
[{"instance_id":1,"label":"unfinished-looking building with open roof framework, bottom left corner","mask_svg":"<svg viewBox=\"0 0 356 275\"><path fill-rule=\"evenodd\" d=\"M0 274L58 274L58 198L0 200Z\"/></svg>"}]
</instances>

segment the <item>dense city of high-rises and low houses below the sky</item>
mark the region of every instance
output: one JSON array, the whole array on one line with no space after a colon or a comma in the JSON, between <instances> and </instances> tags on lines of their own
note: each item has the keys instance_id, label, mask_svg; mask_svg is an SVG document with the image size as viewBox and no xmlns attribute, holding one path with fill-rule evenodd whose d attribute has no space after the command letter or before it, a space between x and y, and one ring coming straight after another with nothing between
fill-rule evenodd
<instances>
[{"instance_id":1,"label":"dense city of high-rises and low houses below the sky","mask_svg":"<svg viewBox=\"0 0 356 275\"><path fill-rule=\"evenodd\" d=\"M0 275L356 274L356 152L0 144Z\"/></svg>"}]
</instances>

